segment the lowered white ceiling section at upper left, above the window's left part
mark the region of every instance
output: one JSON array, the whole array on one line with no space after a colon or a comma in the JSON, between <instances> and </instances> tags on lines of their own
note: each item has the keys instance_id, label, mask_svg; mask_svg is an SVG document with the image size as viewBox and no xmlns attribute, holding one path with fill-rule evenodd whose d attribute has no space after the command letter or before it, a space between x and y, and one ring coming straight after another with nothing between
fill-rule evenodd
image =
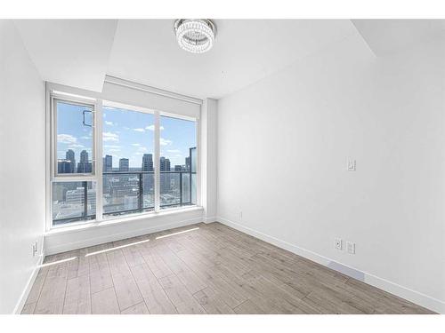
<instances>
[{"instance_id":1,"label":"lowered white ceiling section at upper left, above the window's left part","mask_svg":"<svg viewBox=\"0 0 445 333\"><path fill-rule=\"evenodd\" d=\"M117 20L15 20L44 81L101 91Z\"/></svg>"}]
</instances>

